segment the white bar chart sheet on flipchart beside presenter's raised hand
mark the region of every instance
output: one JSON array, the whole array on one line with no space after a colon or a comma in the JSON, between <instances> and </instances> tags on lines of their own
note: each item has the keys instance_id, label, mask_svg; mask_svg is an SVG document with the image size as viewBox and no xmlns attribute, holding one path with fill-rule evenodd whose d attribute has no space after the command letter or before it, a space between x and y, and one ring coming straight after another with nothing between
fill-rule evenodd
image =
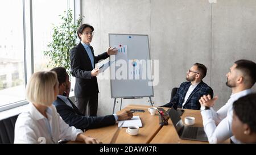
<instances>
[{"instance_id":1,"label":"white bar chart sheet on flipchart beside presenter's raised hand","mask_svg":"<svg viewBox=\"0 0 256 155\"><path fill-rule=\"evenodd\" d=\"M115 60L128 60L128 49L127 45L113 45L113 48L118 49L117 55L111 55L110 60L115 61Z\"/></svg>"}]
</instances>

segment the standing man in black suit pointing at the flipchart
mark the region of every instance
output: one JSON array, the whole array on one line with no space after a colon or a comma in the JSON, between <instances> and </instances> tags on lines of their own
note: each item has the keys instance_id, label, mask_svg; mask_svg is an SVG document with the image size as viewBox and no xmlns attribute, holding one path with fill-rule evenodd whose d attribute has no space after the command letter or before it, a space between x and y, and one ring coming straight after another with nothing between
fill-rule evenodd
<instances>
[{"instance_id":1,"label":"standing man in black suit pointing at the flipchart","mask_svg":"<svg viewBox=\"0 0 256 155\"><path fill-rule=\"evenodd\" d=\"M77 30L77 36L81 41L70 51L71 71L73 77L76 77L76 105L83 115L88 116L97 116L98 110L98 68L95 68L95 64L118 52L116 48L109 47L107 52L94 56L93 48L90 46L93 31L94 28L89 24L82 24Z\"/></svg>"}]
</instances>

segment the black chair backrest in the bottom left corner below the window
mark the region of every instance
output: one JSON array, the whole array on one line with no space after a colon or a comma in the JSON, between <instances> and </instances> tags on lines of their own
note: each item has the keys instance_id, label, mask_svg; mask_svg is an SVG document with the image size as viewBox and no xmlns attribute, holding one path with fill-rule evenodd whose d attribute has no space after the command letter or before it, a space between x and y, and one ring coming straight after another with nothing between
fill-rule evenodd
<instances>
[{"instance_id":1,"label":"black chair backrest in the bottom left corner below the window","mask_svg":"<svg viewBox=\"0 0 256 155\"><path fill-rule=\"evenodd\" d=\"M14 127L18 115L0 120L0 144L14 143Z\"/></svg>"}]
</instances>

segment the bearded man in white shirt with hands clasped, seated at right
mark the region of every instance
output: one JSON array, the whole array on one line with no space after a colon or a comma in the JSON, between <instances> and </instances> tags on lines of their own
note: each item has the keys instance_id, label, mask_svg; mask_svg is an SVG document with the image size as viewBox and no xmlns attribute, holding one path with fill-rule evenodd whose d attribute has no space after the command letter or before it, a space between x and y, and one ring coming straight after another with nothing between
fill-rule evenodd
<instances>
[{"instance_id":1,"label":"bearded man in white shirt with hands clasped, seated at right","mask_svg":"<svg viewBox=\"0 0 256 155\"><path fill-rule=\"evenodd\" d=\"M210 95L203 95L199 102L201 104L201 115L203 118L204 131L209 143L222 143L231 137L233 143L240 143L232 134L233 102L247 94L256 81L256 64L249 60L238 60L226 74L226 85L231 87L232 95L228 102L217 112L212 106L218 99Z\"/></svg>"}]
</instances>

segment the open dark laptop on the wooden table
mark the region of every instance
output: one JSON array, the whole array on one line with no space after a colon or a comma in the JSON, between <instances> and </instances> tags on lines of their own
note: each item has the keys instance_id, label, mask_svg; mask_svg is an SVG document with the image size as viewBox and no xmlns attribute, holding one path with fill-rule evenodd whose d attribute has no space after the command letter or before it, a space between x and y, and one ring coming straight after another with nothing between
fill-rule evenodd
<instances>
[{"instance_id":1,"label":"open dark laptop on the wooden table","mask_svg":"<svg viewBox=\"0 0 256 155\"><path fill-rule=\"evenodd\" d=\"M179 112L174 108L171 108L168 111L168 115L172 121L172 124L174 124L180 139L208 141L203 127L190 127L184 125L182 119L180 118Z\"/></svg>"}]
</instances>

